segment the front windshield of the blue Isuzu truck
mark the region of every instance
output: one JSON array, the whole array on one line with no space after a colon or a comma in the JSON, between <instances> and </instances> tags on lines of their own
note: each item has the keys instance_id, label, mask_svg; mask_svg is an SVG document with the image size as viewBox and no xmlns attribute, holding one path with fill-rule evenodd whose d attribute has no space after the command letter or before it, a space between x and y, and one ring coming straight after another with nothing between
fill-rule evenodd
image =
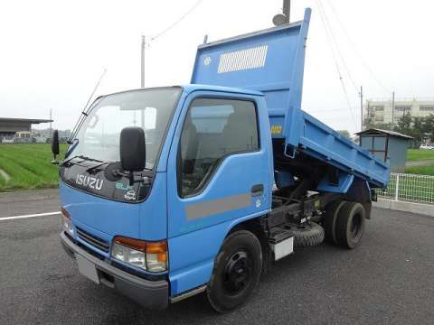
<instances>
[{"instance_id":1,"label":"front windshield of the blue Isuzu truck","mask_svg":"<svg viewBox=\"0 0 434 325\"><path fill-rule=\"evenodd\" d=\"M146 168L152 169L181 91L142 89L102 98L81 126L76 136L79 143L72 154L118 162L120 131L127 126L140 126L146 137Z\"/></svg>"}]
</instances>

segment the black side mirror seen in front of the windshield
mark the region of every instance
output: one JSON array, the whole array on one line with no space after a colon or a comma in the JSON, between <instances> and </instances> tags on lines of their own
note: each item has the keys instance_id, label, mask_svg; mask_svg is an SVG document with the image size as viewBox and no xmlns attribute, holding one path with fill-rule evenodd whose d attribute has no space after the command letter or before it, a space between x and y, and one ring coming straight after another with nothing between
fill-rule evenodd
<instances>
[{"instance_id":1,"label":"black side mirror seen in front of the windshield","mask_svg":"<svg viewBox=\"0 0 434 325\"><path fill-rule=\"evenodd\" d=\"M132 176L132 172L143 171L146 164L145 131L137 126L122 129L119 151L120 163L125 172Z\"/></svg>"}]
</instances>

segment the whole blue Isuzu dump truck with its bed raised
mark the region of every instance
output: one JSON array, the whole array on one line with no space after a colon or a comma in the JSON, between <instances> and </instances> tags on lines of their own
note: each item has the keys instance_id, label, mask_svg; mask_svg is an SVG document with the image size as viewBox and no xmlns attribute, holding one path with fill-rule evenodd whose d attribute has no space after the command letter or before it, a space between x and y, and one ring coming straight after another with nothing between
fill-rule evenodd
<instances>
[{"instance_id":1,"label":"whole blue Isuzu dump truck with its bed raised","mask_svg":"<svg viewBox=\"0 0 434 325\"><path fill-rule=\"evenodd\" d=\"M90 105L59 165L80 274L147 308L204 292L226 312L297 247L360 244L390 168L301 110L310 13L203 43L189 85Z\"/></svg>"}]
</instances>

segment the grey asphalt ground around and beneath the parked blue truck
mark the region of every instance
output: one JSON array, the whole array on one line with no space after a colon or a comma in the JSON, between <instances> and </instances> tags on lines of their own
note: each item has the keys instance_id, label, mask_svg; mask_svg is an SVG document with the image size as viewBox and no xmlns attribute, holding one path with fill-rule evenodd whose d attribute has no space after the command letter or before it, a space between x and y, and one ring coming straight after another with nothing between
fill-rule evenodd
<instances>
[{"instance_id":1,"label":"grey asphalt ground around and beneath the parked blue truck","mask_svg":"<svg viewBox=\"0 0 434 325\"><path fill-rule=\"evenodd\" d=\"M38 199L39 198L39 199ZM58 209L56 192L0 195L0 218ZM218 315L202 295L146 311L78 274L58 216L0 221L0 324L432 324L434 218L374 209L363 245L298 249Z\"/></svg>"}]
</instances>

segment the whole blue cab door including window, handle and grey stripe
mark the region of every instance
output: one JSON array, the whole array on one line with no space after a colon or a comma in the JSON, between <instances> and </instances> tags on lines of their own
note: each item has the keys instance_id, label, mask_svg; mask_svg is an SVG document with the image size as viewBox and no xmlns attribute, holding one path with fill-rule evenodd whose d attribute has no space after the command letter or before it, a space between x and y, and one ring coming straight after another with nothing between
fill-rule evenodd
<instances>
[{"instance_id":1,"label":"whole blue cab door including window, handle and grey stripe","mask_svg":"<svg viewBox=\"0 0 434 325\"><path fill-rule=\"evenodd\" d=\"M174 294L206 283L230 225L265 214L270 201L270 139L259 136L256 98L193 94L185 101L167 165Z\"/></svg>"}]
</instances>

